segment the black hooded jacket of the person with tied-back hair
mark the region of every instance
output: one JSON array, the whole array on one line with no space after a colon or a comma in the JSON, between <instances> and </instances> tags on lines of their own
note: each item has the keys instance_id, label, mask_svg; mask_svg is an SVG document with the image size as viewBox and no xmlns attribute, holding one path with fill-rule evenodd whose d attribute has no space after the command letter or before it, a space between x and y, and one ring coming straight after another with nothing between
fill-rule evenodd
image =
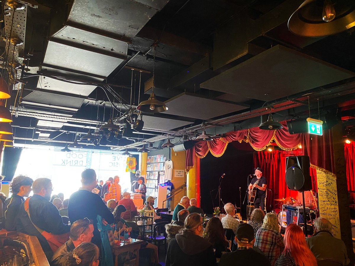
<instances>
[{"instance_id":1,"label":"black hooded jacket of the person with tied-back hair","mask_svg":"<svg viewBox=\"0 0 355 266\"><path fill-rule=\"evenodd\" d=\"M176 234L171 239L165 258L166 266L215 266L212 244L192 234Z\"/></svg>"}]
</instances>

